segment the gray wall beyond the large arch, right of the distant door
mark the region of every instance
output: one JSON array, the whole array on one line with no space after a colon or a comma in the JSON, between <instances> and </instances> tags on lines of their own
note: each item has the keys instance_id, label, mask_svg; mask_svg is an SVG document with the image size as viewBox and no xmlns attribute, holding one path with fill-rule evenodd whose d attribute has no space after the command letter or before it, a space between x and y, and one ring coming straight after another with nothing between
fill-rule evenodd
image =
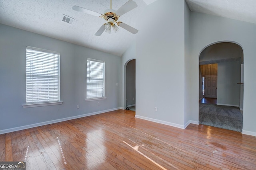
<instances>
[{"instance_id":1,"label":"gray wall beyond the large arch, right of the distant door","mask_svg":"<svg viewBox=\"0 0 256 170\"><path fill-rule=\"evenodd\" d=\"M218 63L218 105L240 106L240 61Z\"/></svg>"}]
</instances>

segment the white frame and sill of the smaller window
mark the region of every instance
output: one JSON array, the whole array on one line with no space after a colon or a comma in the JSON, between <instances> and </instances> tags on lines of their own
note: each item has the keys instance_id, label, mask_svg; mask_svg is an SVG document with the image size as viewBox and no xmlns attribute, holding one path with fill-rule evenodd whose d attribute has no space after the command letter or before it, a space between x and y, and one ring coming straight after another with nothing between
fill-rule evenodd
<instances>
[{"instance_id":1,"label":"white frame and sill of the smaller window","mask_svg":"<svg viewBox=\"0 0 256 170\"><path fill-rule=\"evenodd\" d=\"M93 62L98 62L98 63L103 63L104 64L104 74L102 75L103 76L103 81L104 81L104 95L101 96L101 97L91 97L91 98L87 98L87 92L88 92L88 61L93 61ZM105 61L101 61L101 60L96 60L96 59L90 59L90 58L87 58L86 59L86 93L85 93L85 101L88 102L88 101L95 101L95 100L106 100L106 92L105 92L105 89L106 89L106 81L105 81Z\"/></svg>"}]
</instances>

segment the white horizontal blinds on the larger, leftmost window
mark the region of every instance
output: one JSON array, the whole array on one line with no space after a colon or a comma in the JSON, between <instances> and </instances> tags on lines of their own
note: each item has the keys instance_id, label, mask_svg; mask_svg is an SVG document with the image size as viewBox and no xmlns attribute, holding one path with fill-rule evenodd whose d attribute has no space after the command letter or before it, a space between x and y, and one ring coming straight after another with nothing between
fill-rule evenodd
<instances>
[{"instance_id":1,"label":"white horizontal blinds on the larger, leftmost window","mask_svg":"<svg viewBox=\"0 0 256 170\"><path fill-rule=\"evenodd\" d=\"M60 54L26 48L26 104L60 101Z\"/></svg>"}]
</instances>

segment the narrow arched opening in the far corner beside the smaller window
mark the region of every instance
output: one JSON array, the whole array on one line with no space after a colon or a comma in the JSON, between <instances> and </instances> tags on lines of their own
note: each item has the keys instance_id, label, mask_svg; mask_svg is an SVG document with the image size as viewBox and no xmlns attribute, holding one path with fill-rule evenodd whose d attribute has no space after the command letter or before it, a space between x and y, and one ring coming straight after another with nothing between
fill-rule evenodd
<instances>
[{"instance_id":1,"label":"narrow arched opening in the far corner beside the smaller window","mask_svg":"<svg viewBox=\"0 0 256 170\"><path fill-rule=\"evenodd\" d=\"M136 106L136 60L124 65L124 99L127 110L135 111Z\"/></svg>"}]
</instances>

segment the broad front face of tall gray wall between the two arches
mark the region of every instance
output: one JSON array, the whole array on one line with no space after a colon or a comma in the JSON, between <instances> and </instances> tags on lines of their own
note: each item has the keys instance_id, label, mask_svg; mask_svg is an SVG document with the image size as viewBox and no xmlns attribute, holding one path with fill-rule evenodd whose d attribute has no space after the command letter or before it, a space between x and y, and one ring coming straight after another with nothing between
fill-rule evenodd
<instances>
[{"instance_id":1,"label":"broad front face of tall gray wall between the two arches","mask_svg":"<svg viewBox=\"0 0 256 170\"><path fill-rule=\"evenodd\" d=\"M184 127L184 3L148 5L136 35L136 117L176 127Z\"/></svg>"}]
</instances>

